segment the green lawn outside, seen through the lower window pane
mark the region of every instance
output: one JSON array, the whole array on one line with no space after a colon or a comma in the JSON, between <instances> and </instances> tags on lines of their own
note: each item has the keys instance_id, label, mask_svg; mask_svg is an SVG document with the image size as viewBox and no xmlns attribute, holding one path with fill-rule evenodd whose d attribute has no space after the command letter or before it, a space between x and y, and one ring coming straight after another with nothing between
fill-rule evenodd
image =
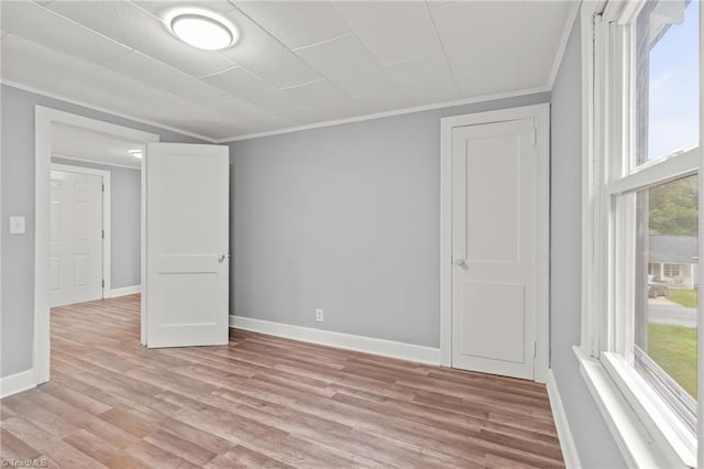
<instances>
[{"instance_id":1,"label":"green lawn outside, seen through the lower window pane","mask_svg":"<svg viewBox=\"0 0 704 469\"><path fill-rule=\"evenodd\" d=\"M696 399L696 328L649 324L648 355Z\"/></svg>"}]
</instances>

